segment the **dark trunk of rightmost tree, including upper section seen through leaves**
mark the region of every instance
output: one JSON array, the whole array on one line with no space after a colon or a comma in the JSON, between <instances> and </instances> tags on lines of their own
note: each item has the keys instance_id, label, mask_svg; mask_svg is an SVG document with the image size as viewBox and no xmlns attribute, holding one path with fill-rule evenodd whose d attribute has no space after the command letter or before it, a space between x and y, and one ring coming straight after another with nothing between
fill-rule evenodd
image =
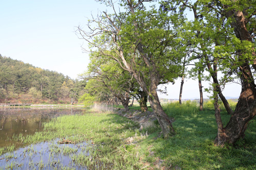
<instances>
[{"instance_id":1,"label":"dark trunk of rightmost tree, including upper section seen through leaves","mask_svg":"<svg viewBox=\"0 0 256 170\"><path fill-rule=\"evenodd\" d=\"M228 6L224 6L224 8L228 8ZM224 14L227 18L234 18L230 25L234 29L237 38L241 41L247 40L252 42L252 38L246 28L243 12L233 9L226 10ZM227 126L223 129L221 137L216 137L215 139L216 145L222 146L225 143L235 143L244 136L249 121L256 115L256 85L254 84L249 62L244 59L239 60L244 61L239 70L241 73L242 91L236 109L230 117ZM253 64L252 66L255 69L255 65Z\"/></svg>"}]
</instances>

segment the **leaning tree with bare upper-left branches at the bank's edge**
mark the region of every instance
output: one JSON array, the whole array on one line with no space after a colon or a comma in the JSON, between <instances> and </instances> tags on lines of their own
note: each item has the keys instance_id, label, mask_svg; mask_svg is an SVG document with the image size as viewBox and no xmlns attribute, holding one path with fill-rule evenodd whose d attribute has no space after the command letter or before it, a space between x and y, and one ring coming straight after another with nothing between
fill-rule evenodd
<instances>
[{"instance_id":1,"label":"leaning tree with bare upper-left branches at the bank's edge","mask_svg":"<svg viewBox=\"0 0 256 170\"><path fill-rule=\"evenodd\" d=\"M103 12L104 15L90 21L89 28L91 23L96 25L90 33L80 27L77 32L98 53L113 58L135 78L147 93L166 138L174 133L174 129L160 105L157 86L178 77L180 54L183 54L177 51L180 44L176 30L180 20L178 14L169 17L163 10L146 10L145 2L148 1L122 1L122 11L126 12ZM116 11L112 1L108 3Z\"/></svg>"}]
</instances>

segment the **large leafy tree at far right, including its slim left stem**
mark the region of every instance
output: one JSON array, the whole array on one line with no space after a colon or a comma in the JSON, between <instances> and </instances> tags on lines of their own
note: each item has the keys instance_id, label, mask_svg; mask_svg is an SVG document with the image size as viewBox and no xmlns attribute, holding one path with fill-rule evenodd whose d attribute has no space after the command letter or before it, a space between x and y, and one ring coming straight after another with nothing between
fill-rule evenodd
<instances>
[{"instance_id":1,"label":"large leafy tree at far right, including its slim left stem","mask_svg":"<svg viewBox=\"0 0 256 170\"><path fill-rule=\"evenodd\" d=\"M256 2L176 1L178 4L193 10L195 20L189 23L193 29L188 29L188 32L195 32L194 53L200 56L200 62L207 66L213 80L218 125L215 144L234 143L244 136L249 121L256 114L256 86L251 70L255 70ZM223 74L221 79L218 79L218 72ZM234 78L240 79L242 91L233 112L222 94L222 87ZM226 127L223 127L220 116L218 95L231 114Z\"/></svg>"}]
</instances>

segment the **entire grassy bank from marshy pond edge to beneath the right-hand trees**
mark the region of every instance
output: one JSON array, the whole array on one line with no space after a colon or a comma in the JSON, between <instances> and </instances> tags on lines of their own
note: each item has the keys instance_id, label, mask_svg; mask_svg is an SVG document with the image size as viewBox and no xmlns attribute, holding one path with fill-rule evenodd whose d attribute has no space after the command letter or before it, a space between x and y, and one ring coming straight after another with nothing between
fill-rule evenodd
<instances>
[{"instance_id":1,"label":"entire grassy bank from marshy pond edge to beneath the right-hand trees","mask_svg":"<svg viewBox=\"0 0 256 170\"><path fill-rule=\"evenodd\" d=\"M25 143L50 141L48 148L51 152L48 152L61 155L69 153L69 159L76 167L256 169L255 121L248 126L245 137L236 145L219 148L214 147L213 144L217 134L217 125L214 110L210 104L208 108L206 105L205 111L202 112L199 112L197 104L193 102L186 102L182 106L178 103L165 104L163 108L169 116L175 118L173 127L176 135L169 139L162 138L159 126L139 131L139 126L125 117L112 113L94 112L57 117L45 124L44 131L26 137L17 135L12 140ZM225 125L230 115L223 111L221 116ZM65 146L58 144L57 140L63 138L76 142L76 144ZM84 142L86 144L82 145ZM72 149L70 145L76 148ZM80 148L86 148L86 151L80 152ZM36 152L31 150L29 152L32 155L36 152L40 153L40 150ZM53 163L50 161L45 165L44 162L31 164L39 168L39 165L40 167L52 167ZM69 169L73 166L62 165L59 168Z\"/></svg>"}]
</instances>

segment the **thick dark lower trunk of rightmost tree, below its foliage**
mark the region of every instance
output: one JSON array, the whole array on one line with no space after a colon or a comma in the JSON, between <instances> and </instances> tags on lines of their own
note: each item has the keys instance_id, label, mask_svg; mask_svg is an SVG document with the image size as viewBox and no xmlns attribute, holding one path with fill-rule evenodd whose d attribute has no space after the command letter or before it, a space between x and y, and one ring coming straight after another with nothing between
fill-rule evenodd
<instances>
[{"instance_id":1,"label":"thick dark lower trunk of rightmost tree, below its foliage","mask_svg":"<svg viewBox=\"0 0 256 170\"><path fill-rule=\"evenodd\" d=\"M242 72L242 92L227 126L215 139L215 144L218 146L223 146L225 143L233 144L243 137L249 121L256 115L256 89L250 66L244 64L240 67L240 71Z\"/></svg>"}]
</instances>

